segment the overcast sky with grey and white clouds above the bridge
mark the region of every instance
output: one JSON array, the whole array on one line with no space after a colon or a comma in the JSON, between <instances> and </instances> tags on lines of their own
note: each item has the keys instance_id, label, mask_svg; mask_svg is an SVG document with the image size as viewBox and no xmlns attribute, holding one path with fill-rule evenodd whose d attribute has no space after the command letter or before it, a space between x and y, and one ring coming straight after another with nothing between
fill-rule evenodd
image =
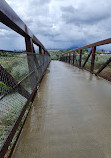
<instances>
[{"instance_id":1,"label":"overcast sky with grey and white clouds above the bridge","mask_svg":"<svg viewBox=\"0 0 111 158\"><path fill-rule=\"evenodd\" d=\"M76 48L111 37L111 0L6 1L47 49ZM0 49L24 48L23 37L0 24Z\"/></svg>"}]
</instances>

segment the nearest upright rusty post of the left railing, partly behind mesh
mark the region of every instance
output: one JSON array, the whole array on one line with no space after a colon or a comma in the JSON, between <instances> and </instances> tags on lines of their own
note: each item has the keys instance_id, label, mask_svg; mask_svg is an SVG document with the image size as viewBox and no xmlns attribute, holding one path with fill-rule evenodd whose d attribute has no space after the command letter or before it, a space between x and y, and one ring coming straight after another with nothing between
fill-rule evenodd
<instances>
[{"instance_id":1,"label":"nearest upright rusty post of the left railing, partly behind mesh","mask_svg":"<svg viewBox=\"0 0 111 158\"><path fill-rule=\"evenodd\" d=\"M32 39L25 38L25 44L26 44L26 51L33 53L34 47L33 47ZM33 54L32 55L27 54L27 60L28 60L29 73L31 73L31 72L33 72L34 67L35 67ZM30 84L31 84L31 89L33 90L35 88L35 84L36 84L35 72L30 76Z\"/></svg>"}]
</instances>

